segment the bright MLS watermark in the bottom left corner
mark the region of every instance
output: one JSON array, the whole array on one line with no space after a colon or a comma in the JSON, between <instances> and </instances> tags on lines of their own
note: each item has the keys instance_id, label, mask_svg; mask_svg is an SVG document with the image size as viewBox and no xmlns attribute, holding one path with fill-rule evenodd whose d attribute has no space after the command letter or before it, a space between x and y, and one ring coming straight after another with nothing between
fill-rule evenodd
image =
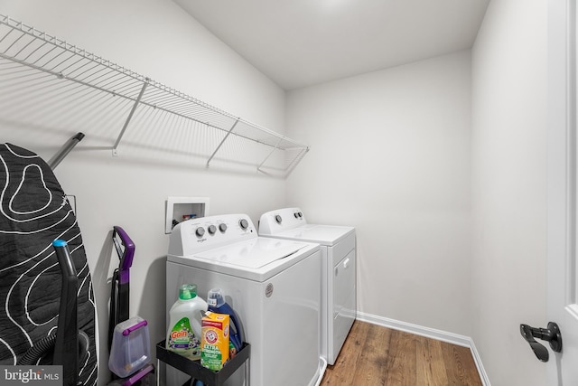
<instances>
[{"instance_id":1,"label":"bright MLS watermark in the bottom left corner","mask_svg":"<svg viewBox=\"0 0 578 386\"><path fill-rule=\"evenodd\" d=\"M62 386L62 366L2 366L0 386Z\"/></svg>"}]
</instances>

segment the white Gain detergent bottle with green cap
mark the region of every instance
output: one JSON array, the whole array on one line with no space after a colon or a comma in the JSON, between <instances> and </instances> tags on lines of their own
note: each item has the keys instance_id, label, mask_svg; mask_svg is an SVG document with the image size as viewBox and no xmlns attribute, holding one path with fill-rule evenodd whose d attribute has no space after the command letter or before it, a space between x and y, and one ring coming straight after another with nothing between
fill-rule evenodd
<instances>
[{"instance_id":1,"label":"white Gain detergent bottle with green cap","mask_svg":"<svg viewBox=\"0 0 578 386\"><path fill-rule=\"evenodd\" d=\"M169 311L166 349L191 357L200 357L200 321L208 306L197 296L197 286L183 284L179 299Z\"/></svg>"}]
</instances>

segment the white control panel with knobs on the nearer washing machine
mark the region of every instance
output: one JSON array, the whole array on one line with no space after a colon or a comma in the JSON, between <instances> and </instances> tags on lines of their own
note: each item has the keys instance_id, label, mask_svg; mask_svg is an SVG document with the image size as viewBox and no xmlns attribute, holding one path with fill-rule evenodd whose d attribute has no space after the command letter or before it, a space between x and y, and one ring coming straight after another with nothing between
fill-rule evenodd
<instances>
[{"instance_id":1,"label":"white control panel with knobs on the nearer washing machine","mask_svg":"<svg viewBox=\"0 0 578 386\"><path fill-rule=\"evenodd\" d=\"M255 226L247 214L195 218L182 221L172 229L169 255L188 256L256 237Z\"/></svg>"}]
</instances>

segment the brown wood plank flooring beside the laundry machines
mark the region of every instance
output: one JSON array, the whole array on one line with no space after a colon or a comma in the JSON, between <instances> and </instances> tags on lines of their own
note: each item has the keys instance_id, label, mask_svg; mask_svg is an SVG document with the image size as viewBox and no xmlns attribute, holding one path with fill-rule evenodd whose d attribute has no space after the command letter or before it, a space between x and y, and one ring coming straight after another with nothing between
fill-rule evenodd
<instances>
[{"instance_id":1,"label":"brown wood plank flooring beside the laundry machines","mask_svg":"<svg viewBox=\"0 0 578 386\"><path fill-rule=\"evenodd\" d=\"M321 386L482 386L467 347L356 321Z\"/></svg>"}]
</instances>

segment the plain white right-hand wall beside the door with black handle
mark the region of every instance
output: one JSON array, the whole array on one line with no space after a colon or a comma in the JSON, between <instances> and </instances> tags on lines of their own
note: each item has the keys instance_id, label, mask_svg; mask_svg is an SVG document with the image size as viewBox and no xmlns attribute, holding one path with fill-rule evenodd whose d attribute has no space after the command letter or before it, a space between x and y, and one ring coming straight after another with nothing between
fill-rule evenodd
<instances>
[{"instance_id":1,"label":"plain white right-hand wall beside the door with black handle","mask_svg":"<svg viewBox=\"0 0 578 386\"><path fill-rule=\"evenodd\" d=\"M473 339L495 385L545 385L547 2L492 1L472 52Z\"/></svg>"}]
</instances>

